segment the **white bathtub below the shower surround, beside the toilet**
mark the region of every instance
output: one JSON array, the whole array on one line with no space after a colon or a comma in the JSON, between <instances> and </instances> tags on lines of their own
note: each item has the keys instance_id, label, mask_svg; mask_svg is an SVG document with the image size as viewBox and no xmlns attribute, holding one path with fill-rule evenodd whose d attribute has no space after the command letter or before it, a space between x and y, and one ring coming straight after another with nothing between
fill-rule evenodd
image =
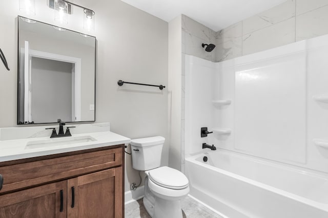
<instances>
[{"instance_id":1,"label":"white bathtub below the shower surround, beside the toilet","mask_svg":"<svg viewBox=\"0 0 328 218\"><path fill-rule=\"evenodd\" d=\"M185 166L190 195L223 216L328 217L327 174L221 149L188 156Z\"/></svg>"}]
</instances>

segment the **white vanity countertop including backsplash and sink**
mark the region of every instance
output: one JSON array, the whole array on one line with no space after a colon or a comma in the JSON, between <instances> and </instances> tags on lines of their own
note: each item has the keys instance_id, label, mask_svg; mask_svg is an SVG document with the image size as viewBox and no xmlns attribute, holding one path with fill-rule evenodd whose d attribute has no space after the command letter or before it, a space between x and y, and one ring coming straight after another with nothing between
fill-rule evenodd
<instances>
[{"instance_id":1,"label":"white vanity countertop including backsplash and sink","mask_svg":"<svg viewBox=\"0 0 328 218\"><path fill-rule=\"evenodd\" d=\"M10 161L129 143L130 139L110 132L110 124L80 124L70 129L72 136L50 138L46 127L0 129L0 161ZM57 128L58 129L58 128ZM65 128L64 128L64 131Z\"/></svg>"}]
</instances>

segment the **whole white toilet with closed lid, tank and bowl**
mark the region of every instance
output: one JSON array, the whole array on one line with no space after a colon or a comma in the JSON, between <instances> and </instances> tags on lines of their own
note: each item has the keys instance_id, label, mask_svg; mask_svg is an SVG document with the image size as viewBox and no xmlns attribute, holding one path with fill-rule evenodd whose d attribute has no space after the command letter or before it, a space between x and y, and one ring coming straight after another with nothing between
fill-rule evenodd
<instances>
[{"instance_id":1,"label":"whole white toilet with closed lid, tank and bowl","mask_svg":"<svg viewBox=\"0 0 328 218\"><path fill-rule=\"evenodd\" d=\"M180 200L189 193L189 181L180 171L160 166L164 141L161 136L132 139L132 165L147 175L144 205L150 216L182 218Z\"/></svg>"}]
</instances>

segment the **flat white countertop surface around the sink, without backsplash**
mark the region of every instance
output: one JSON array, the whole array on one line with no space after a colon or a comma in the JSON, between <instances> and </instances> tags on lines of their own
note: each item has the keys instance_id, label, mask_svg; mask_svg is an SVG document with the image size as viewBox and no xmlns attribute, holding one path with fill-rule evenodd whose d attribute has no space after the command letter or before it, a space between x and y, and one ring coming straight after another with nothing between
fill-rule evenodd
<instances>
[{"instance_id":1,"label":"flat white countertop surface around the sink, without backsplash","mask_svg":"<svg viewBox=\"0 0 328 218\"><path fill-rule=\"evenodd\" d=\"M9 160L18 160L31 157L39 157L45 155L73 152L86 149L101 148L107 146L115 146L116 144L125 144L130 142L130 138L118 135L116 133L106 131L106 132L91 132L83 134L73 134L71 137L83 137L90 136L94 141L73 143L73 144L63 144L59 146L49 146L43 148L29 148L27 149L27 144L29 142L37 142L42 140L48 140L48 137L37 137L37 138L23 138L23 139L13 139L13 140L0 140L0 162ZM69 137L64 137L69 138ZM52 138L52 141L63 140L60 138Z\"/></svg>"}]
</instances>

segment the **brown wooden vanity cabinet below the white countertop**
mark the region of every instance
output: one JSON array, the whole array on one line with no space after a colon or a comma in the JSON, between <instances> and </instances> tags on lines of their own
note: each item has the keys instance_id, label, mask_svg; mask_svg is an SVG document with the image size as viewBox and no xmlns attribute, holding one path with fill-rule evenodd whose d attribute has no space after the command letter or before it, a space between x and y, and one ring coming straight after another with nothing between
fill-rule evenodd
<instances>
[{"instance_id":1,"label":"brown wooden vanity cabinet below the white countertop","mask_svg":"<svg viewBox=\"0 0 328 218\"><path fill-rule=\"evenodd\" d=\"M123 171L124 145L2 162L0 217L124 217Z\"/></svg>"}]
</instances>

